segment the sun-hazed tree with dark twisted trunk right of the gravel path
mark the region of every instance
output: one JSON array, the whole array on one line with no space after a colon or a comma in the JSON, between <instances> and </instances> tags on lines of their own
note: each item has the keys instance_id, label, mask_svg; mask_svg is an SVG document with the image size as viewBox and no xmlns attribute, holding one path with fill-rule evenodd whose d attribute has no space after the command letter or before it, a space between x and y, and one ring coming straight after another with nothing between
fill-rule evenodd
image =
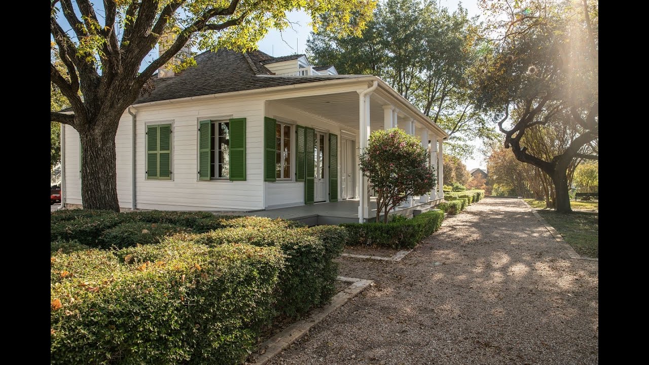
<instances>
[{"instance_id":1,"label":"sun-hazed tree with dark twisted trunk right of the gravel path","mask_svg":"<svg viewBox=\"0 0 649 365\"><path fill-rule=\"evenodd\" d=\"M574 6L577 5L577 6ZM597 4L540 0L484 1L500 38L485 47L471 75L476 103L502 116L498 128L520 162L546 173L557 212L571 212L569 168L574 160L598 159ZM508 123L507 125L505 123ZM533 129L572 125L576 134L552 156L526 143Z\"/></svg>"}]
</instances>

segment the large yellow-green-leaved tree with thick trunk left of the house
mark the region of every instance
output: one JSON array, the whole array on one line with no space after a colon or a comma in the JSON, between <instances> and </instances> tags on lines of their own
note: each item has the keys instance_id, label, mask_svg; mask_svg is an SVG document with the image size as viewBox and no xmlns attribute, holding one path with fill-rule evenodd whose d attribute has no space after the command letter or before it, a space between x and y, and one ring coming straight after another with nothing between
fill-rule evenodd
<instances>
[{"instance_id":1,"label":"large yellow-green-leaved tree with thick trunk left of the house","mask_svg":"<svg viewBox=\"0 0 649 365\"><path fill-rule=\"evenodd\" d=\"M119 119L162 66L195 64L172 58L186 45L200 50L254 49L268 29L288 25L286 13L304 9L333 34L356 34L374 8L372 0L51 0L50 32L65 73L51 62L50 79L73 114L51 112L51 121L79 132L84 208L119 210L115 136ZM350 14L356 15L354 23ZM100 21L100 19L102 19ZM164 34L175 38L140 71Z\"/></svg>"}]
</instances>

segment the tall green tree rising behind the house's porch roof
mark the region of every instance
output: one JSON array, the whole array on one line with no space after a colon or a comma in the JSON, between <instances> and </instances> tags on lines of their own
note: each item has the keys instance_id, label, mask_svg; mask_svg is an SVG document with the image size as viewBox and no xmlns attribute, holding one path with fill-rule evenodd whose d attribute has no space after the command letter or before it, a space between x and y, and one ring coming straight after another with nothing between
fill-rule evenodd
<instances>
[{"instance_id":1,"label":"tall green tree rising behind the house's porch roof","mask_svg":"<svg viewBox=\"0 0 649 365\"><path fill-rule=\"evenodd\" d=\"M465 74L478 51L475 23L461 7L451 13L435 1L387 0L376 7L360 38L319 29L311 34L307 53L340 73L380 76L448 132L450 154L467 157L473 153L467 140L496 134L469 99Z\"/></svg>"}]
</instances>

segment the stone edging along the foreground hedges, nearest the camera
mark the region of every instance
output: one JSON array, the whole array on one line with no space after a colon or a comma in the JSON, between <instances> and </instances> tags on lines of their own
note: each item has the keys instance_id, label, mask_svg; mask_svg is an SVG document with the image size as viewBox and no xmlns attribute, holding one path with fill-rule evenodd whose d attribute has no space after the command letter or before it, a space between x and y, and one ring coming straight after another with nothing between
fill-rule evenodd
<instances>
[{"instance_id":1,"label":"stone edging along the foreground hedges, nearest the camera","mask_svg":"<svg viewBox=\"0 0 649 365\"><path fill-rule=\"evenodd\" d=\"M252 354L254 362L247 362L246 364L267 364L271 359L273 359L273 357L275 357L275 355L291 346L293 342L302 338L304 334L307 334L311 327L324 320L324 317L326 317L327 314L330 314L337 308L342 307L343 304L349 301L349 299L357 296L358 293L363 291L363 289L374 283L373 280L356 279L354 277L339 276L337 277L337 279L339 281L344 281L351 284L350 286L347 286L347 288L336 294L334 297L332 297L331 303L326 307L316 308L315 310L313 310L309 318L306 318L306 320L297 321L292 325L289 325L288 327L286 327L286 329L284 329L284 331L263 342L263 344L258 347L258 351Z\"/></svg>"}]
</instances>

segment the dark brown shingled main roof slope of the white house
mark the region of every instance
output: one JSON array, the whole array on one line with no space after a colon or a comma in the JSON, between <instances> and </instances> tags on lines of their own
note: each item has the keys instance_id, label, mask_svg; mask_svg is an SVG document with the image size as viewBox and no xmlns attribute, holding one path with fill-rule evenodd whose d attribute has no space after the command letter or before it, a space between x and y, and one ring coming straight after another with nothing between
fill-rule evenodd
<instances>
[{"instance_id":1,"label":"dark brown shingled main roof slope of the white house","mask_svg":"<svg viewBox=\"0 0 649 365\"><path fill-rule=\"evenodd\" d=\"M288 57L299 57L293 55ZM271 71L263 66L269 55L254 51L243 55L228 49L204 52L195 57L196 66L171 77L153 79L151 94L140 95L134 105L152 101L180 99L200 95L221 94L259 88L271 88L332 79L323 77L263 77ZM272 57L271 57L272 58ZM278 57L284 58L284 57ZM273 58L276 60L278 58Z\"/></svg>"}]
</instances>

